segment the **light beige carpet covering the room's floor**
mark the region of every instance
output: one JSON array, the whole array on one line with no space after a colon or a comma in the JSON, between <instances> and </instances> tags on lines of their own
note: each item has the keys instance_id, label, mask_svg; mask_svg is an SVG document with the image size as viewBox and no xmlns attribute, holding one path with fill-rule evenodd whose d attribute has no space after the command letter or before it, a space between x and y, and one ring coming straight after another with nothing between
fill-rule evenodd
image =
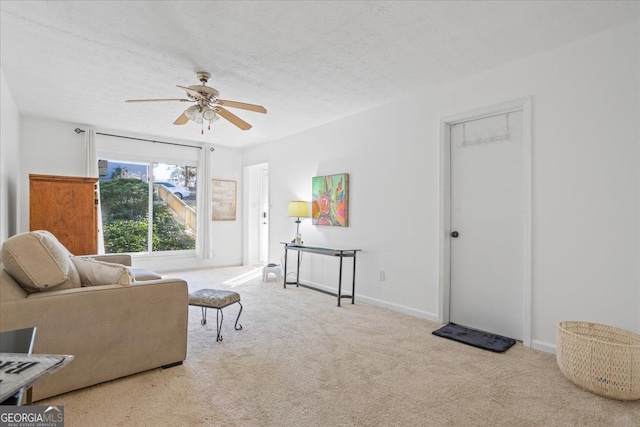
<instances>
[{"instance_id":1,"label":"light beige carpet covering the room's floor","mask_svg":"<svg viewBox=\"0 0 640 427\"><path fill-rule=\"evenodd\" d=\"M555 356L491 353L431 334L442 325L305 288L228 279L249 267L177 272L190 290L232 289L215 311L190 307L187 359L37 402L66 426L640 426L640 401L569 382ZM225 283L226 282L226 283Z\"/></svg>"}]
</instances>

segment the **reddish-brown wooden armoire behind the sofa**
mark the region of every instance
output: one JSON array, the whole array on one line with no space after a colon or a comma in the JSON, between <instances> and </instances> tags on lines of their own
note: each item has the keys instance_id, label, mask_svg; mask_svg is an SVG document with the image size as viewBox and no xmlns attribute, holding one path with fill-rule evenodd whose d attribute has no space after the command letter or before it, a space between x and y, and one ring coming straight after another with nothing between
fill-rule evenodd
<instances>
[{"instance_id":1,"label":"reddish-brown wooden armoire behind the sofa","mask_svg":"<svg viewBox=\"0 0 640 427\"><path fill-rule=\"evenodd\" d=\"M29 175L29 230L51 232L73 255L98 252L98 178Z\"/></svg>"}]
</instances>

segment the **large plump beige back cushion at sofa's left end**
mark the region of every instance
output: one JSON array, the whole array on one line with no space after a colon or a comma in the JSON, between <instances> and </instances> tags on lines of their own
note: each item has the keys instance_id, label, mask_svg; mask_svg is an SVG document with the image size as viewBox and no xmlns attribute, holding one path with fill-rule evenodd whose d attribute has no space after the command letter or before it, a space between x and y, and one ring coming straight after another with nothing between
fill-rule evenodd
<instances>
[{"instance_id":1,"label":"large plump beige back cushion at sofa's left end","mask_svg":"<svg viewBox=\"0 0 640 427\"><path fill-rule=\"evenodd\" d=\"M28 293L80 287L71 253L48 231L16 234L2 245L2 263Z\"/></svg>"}]
</instances>

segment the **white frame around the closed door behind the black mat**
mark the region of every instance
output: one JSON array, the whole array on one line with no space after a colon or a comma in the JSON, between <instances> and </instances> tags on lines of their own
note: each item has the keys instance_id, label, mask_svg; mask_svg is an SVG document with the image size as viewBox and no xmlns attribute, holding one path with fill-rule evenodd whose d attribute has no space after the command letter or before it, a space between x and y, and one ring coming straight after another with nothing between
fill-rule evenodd
<instances>
[{"instance_id":1,"label":"white frame around the closed door behind the black mat","mask_svg":"<svg viewBox=\"0 0 640 427\"><path fill-rule=\"evenodd\" d=\"M438 321L449 322L451 298L451 132L450 126L470 120L482 119L512 111L523 112L523 345L531 347L531 97L519 98L440 119L440 221L439 221L439 307Z\"/></svg>"}]
</instances>

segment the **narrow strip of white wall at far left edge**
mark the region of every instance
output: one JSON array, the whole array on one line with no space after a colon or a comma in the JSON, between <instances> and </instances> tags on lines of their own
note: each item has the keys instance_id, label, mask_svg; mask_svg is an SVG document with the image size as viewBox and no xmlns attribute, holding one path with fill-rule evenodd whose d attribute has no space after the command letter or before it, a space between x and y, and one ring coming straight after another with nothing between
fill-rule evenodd
<instances>
[{"instance_id":1,"label":"narrow strip of white wall at far left edge","mask_svg":"<svg viewBox=\"0 0 640 427\"><path fill-rule=\"evenodd\" d=\"M0 242L18 230L20 114L0 69Z\"/></svg>"}]
</instances>

